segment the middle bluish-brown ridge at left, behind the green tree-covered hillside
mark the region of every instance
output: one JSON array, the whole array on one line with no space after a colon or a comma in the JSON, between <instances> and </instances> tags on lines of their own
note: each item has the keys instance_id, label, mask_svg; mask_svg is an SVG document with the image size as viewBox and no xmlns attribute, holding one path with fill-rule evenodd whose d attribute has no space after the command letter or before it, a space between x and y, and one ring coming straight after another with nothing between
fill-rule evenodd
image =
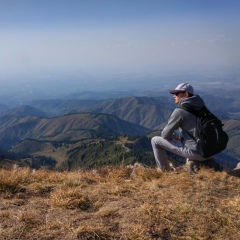
<instances>
[{"instance_id":1,"label":"middle bluish-brown ridge at left, behind the green tree-covered hillside","mask_svg":"<svg viewBox=\"0 0 240 240\"><path fill-rule=\"evenodd\" d=\"M0 143L26 138L45 141L78 141L100 135L141 135L149 130L109 114L70 114L58 118L5 116L0 119ZM12 143L11 143L12 144Z\"/></svg>"}]
</instances>

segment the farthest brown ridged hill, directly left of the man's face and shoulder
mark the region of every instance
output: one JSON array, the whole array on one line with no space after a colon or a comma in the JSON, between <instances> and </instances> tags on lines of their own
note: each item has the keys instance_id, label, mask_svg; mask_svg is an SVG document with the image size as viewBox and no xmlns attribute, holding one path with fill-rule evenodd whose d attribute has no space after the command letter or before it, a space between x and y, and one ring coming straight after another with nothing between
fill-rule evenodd
<instances>
[{"instance_id":1,"label":"farthest brown ridged hill, directly left of the man's face and shoulder","mask_svg":"<svg viewBox=\"0 0 240 240\"><path fill-rule=\"evenodd\" d=\"M169 103L165 99L130 97L80 107L78 111L108 113L125 121L154 129L169 118L173 106L173 103Z\"/></svg>"}]
</instances>

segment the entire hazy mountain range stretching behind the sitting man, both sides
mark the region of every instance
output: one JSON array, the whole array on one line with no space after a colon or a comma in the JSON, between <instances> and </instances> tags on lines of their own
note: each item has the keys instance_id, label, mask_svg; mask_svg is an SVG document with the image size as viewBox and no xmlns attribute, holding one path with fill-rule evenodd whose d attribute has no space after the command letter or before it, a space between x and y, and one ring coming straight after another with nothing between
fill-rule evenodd
<instances>
[{"instance_id":1,"label":"entire hazy mountain range stretching behind the sitting man, both sides","mask_svg":"<svg viewBox=\"0 0 240 240\"><path fill-rule=\"evenodd\" d=\"M230 115L238 114L236 101L227 101L232 106L228 112L226 106L221 111L216 103L215 109L224 119L224 129L229 135L224 162L229 160L234 165L240 156L240 120L230 118ZM213 102L213 99L209 100L210 109ZM69 165L81 165L84 161L87 166L93 166L94 161L109 164L111 158L115 163L123 158L125 162L139 161L139 158L149 162L152 155L147 141L150 142L150 136L159 134L158 130L166 124L174 107L172 98L163 96L105 100L45 99L13 109L5 106L0 118L1 151L19 159L33 156L53 158L56 162L65 162L68 169ZM147 140L138 141L136 138L130 141L136 150L130 151L127 140L119 144L119 138L124 135L128 139L138 135L138 140L146 136ZM135 158L129 152L134 152Z\"/></svg>"}]
</instances>

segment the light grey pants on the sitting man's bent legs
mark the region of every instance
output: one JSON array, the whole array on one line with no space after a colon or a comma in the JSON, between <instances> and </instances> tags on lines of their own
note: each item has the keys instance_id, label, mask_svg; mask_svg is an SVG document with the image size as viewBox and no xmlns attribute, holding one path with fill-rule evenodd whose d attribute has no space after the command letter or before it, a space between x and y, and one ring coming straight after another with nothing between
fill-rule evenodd
<instances>
[{"instance_id":1,"label":"light grey pants on the sitting man's bent legs","mask_svg":"<svg viewBox=\"0 0 240 240\"><path fill-rule=\"evenodd\" d=\"M175 153L181 157L189 158L196 161L204 161L208 158L203 158L198 153L185 147L182 142L175 140L166 140L162 137L153 137L151 140L153 153L157 166L162 170L169 170L169 162L166 151Z\"/></svg>"}]
</instances>

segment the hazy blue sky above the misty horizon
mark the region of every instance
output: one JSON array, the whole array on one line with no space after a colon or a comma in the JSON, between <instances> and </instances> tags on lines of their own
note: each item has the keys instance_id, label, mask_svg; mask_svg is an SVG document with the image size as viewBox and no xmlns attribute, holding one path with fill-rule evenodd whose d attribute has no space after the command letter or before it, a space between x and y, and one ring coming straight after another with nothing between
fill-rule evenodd
<instances>
[{"instance_id":1,"label":"hazy blue sky above the misty horizon","mask_svg":"<svg viewBox=\"0 0 240 240\"><path fill-rule=\"evenodd\" d=\"M239 0L0 0L0 82L238 69Z\"/></svg>"}]
</instances>

